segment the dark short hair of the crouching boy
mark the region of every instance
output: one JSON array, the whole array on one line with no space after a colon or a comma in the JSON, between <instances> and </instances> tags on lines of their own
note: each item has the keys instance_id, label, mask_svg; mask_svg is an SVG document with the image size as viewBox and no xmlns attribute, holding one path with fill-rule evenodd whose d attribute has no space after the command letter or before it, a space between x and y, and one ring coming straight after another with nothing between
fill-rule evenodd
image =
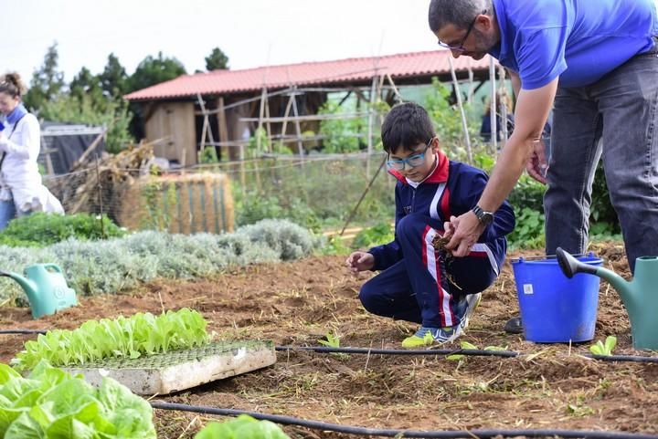
<instances>
[{"instance_id":1,"label":"dark short hair of the crouching boy","mask_svg":"<svg viewBox=\"0 0 658 439\"><path fill-rule=\"evenodd\" d=\"M405 102L393 107L382 124L384 151L396 152L400 146L415 151L419 143L434 137L430 115L419 104Z\"/></svg>"}]
</instances>

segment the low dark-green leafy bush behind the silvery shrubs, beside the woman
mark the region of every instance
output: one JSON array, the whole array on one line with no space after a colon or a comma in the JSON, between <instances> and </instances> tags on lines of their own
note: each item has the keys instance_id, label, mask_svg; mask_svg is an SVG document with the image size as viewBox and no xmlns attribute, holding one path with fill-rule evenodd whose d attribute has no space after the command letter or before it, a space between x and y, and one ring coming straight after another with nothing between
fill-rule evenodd
<instances>
[{"instance_id":1,"label":"low dark-green leafy bush behind the silvery shrubs, beside the woman","mask_svg":"<svg viewBox=\"0 0 658 439\"><path fill-rule=\"evenodd\" d=\"M11 221L0 232L1 246L49 246L70 237L78 240L122 236L125 232L103 215L36 213Z\"/></svg>"}]
</instances>

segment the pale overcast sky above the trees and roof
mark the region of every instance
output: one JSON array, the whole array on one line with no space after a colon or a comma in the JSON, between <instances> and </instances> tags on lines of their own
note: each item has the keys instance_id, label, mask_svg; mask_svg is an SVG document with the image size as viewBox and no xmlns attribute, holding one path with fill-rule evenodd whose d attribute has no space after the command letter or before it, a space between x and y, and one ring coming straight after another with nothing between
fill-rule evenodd
<instances>
[{"instance_id":1,"label":"pale overcast sky above the trees and roof","mask_svg":"<svg viewBox=\"0 0 658 439\"><path fill-rule=\"evenodd\" d=\"M205 69L213 47L229 68L434 50L429 0L0 0L0 66L29 82L57 41L59 69L100 73L108 55L128 74L148 55Z\"/></svg>"}]
</instances>

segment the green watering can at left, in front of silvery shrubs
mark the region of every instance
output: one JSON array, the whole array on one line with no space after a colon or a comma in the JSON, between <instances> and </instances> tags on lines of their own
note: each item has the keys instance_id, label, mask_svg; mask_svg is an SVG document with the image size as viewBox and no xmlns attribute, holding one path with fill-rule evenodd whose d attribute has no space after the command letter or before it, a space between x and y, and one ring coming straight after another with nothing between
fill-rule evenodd
<instances>
[{"instance_id":1,"label":"green watering can at left, in front of silvery shrubs","mask_svg":"<svg viewBox=\"0 0 658 439\"><path fill-rule=\"evenodd\" d=\"M78 305L75 290L69 288L62 269L55 264L29 266L25 277L6 271L0 271L0 276L11 277L23 288L35 319Z\"/></svg>"}]
</instances>

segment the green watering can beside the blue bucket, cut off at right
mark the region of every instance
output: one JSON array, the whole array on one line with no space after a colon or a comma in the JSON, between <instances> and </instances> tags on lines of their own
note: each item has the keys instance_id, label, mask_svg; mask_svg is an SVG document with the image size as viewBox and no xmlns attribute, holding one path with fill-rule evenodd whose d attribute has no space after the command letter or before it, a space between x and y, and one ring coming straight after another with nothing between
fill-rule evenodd
<instances>
[{"instance_id":1,"label":"green watering can beside the blue bucket, cut off at right","mask_svg":"<svg viewBox=\"0 0 658 439\"><path fill-rule=\"evenodd\" d=\"M635 259L635 277L627 282L612 270L579 262L560 247L557 247L556 255L557 263L567 277L588 273L610 282L629 313L633 348L658 350L658 256Z\"/></svg>"}]
</instances>

